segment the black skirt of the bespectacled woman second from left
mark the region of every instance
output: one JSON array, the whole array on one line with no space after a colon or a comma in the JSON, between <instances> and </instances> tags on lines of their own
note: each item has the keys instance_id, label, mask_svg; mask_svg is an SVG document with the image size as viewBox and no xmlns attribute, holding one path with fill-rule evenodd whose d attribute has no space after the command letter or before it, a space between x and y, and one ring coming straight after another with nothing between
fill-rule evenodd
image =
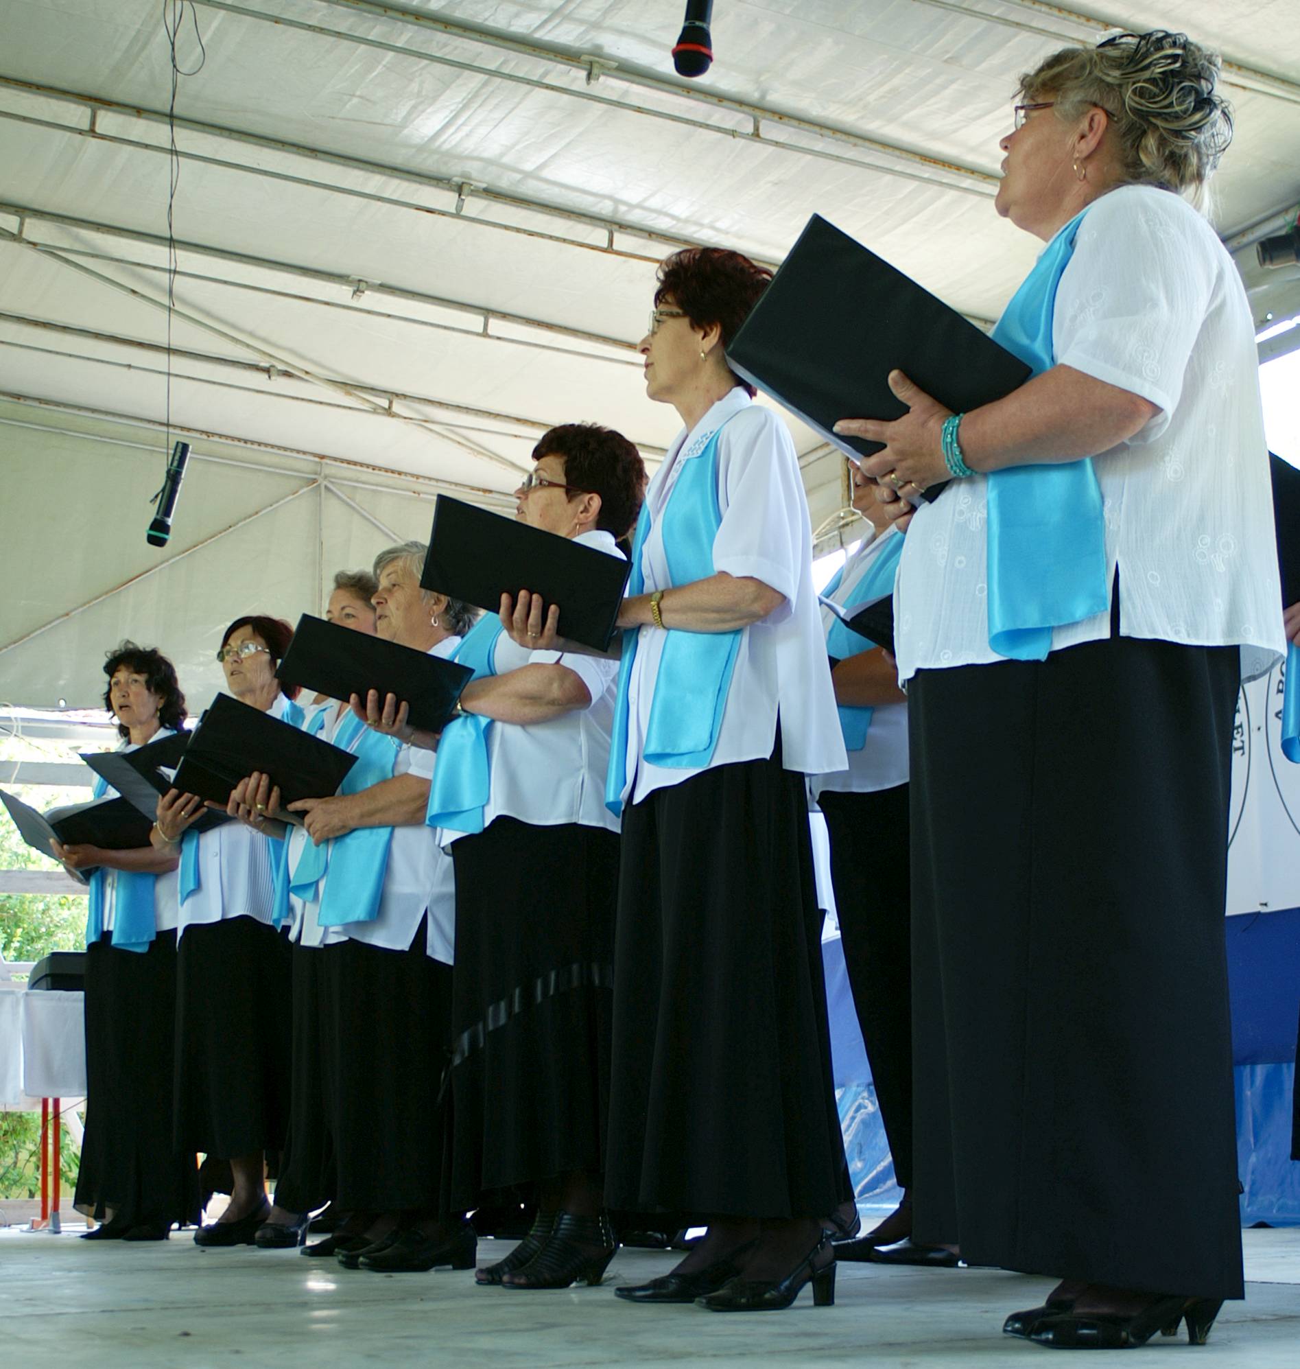
<instances>
[{"instance_id":1,"label":"black skirt of the bespectacled woman second from left","mask_svg":"<svg viewBox=\"0 0 1300 1369\"><path fill-rule=\"evenodd\" d=\"M289 1121L289 943L256 917L186 928L177 950L177 1144L278 1151Z\"/></svg>"}]
</instances>

